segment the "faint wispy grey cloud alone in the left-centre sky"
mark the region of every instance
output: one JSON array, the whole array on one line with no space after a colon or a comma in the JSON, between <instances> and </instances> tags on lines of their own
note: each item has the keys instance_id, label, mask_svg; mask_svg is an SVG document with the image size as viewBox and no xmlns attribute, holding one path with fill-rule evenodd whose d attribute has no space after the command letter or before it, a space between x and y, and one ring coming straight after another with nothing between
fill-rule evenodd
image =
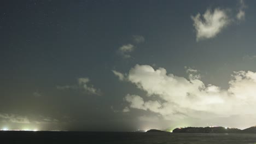
<instances>
[{"instance_id":1,"label":"faint wispy grey cloud alone in the left-centre sky","mask_svg":"<svg viewBox=\"0 0 256 144\"><path fill-rule=\"evenodd\" d=\"M56 86L57 89L65 90L65 89L80 89L88 94L101 95L101 90L94 87L94 85L89 85L90 79L88 77L80 77L78 78L78 85L73 86Z\"/></svg>"}]
</instances>

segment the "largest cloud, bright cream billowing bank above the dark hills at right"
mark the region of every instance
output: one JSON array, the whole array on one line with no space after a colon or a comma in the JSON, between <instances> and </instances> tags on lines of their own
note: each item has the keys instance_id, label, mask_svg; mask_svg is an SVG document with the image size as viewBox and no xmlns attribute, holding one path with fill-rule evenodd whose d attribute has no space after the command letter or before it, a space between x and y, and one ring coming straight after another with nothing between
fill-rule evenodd
<instances>
[{"instance_id":1,"label":"largest cloud, bright cream billowing bank above the dark hills at right","mask_svg":"<svg viewBox=\"0 0 256 144\"><path fill-rule=\"evenodd\" d=\"M167 74L164 68L135 65L127 79L147 92L147 100L127 94L132 109L160 114L165 119L210 116L249 115L256 113L256 73L234 71L229 88L205 85L197 70L188 68L188 78ZM208 113L208 114L207 114Z\"/></svg>"}]
</instances>

